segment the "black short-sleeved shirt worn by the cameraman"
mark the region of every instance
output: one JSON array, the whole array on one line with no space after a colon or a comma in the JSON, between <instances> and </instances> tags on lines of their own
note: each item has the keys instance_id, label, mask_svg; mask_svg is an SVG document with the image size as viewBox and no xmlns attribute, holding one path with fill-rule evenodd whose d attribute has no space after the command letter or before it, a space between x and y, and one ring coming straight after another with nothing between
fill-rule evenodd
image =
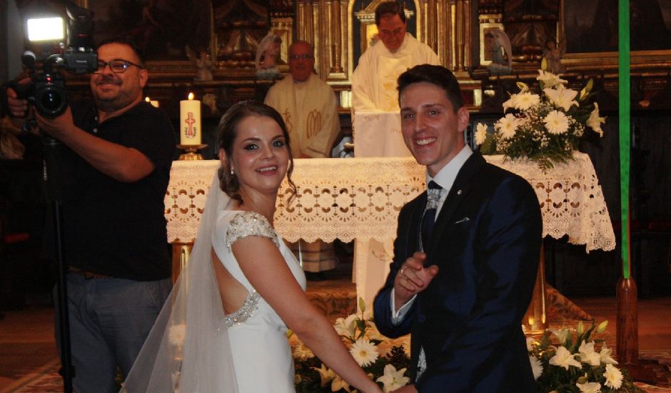
<instances>
[{"instance_id":1,"label":"black short-sleeved shirt worn by the cameraman","mask_svg":"<svg viewBox=\"0 0 671 393\"><path fill-rule=\"evenodd\" d=\"M137 149L153 163L143 179L124 183L73 151L61 154L64 257L71 267L148 281L171 276L163 198L175 136L164 111L141 101L120 116L98 122L93 101L71 106L74 123L95 136Z\"/></svg>"}]
</instances>

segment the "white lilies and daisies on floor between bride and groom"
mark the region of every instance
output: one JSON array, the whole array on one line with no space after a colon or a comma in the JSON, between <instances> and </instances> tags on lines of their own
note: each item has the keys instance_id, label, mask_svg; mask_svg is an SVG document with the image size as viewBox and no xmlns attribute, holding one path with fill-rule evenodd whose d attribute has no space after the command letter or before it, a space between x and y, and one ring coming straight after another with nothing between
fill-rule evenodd
<instances>
[{"instance_id":1,"label":"white lilies and daisies on floor between bride and groom","mask_svg":"<svg viewBox=\"0 0 671 393\"><path fill-rule=\"evenodd\" d=\"M359 299L359 309L361 314L336 319L335 331L368 377L377 382L385 393L405 386L410 382L409 337L384 337L373 321L363 317L363 299ZM296 334L289 332L288 340L296 368L296 392L357 392L315 357Z\"/></svg>"}]
</instances>

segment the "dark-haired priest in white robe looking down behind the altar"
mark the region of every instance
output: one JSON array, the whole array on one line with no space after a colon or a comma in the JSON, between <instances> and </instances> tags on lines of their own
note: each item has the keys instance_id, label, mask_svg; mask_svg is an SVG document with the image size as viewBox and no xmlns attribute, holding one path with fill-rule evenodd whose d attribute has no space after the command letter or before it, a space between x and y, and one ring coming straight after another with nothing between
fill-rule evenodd
<instances>
[{"instance_id":1,"label":"dark-haired priest in white robe looking down behind the altar","mask_svg":"<svg viewBox=\"0 0 671 393\"><path fill-rule=\"evenodd\" d=\"M352 75L354 156L410 156L400 132L396 79L418 64L439 65L438 56L406 31L403 5L375 9L378 40L359 58ZM357 297L369 306L389 274L393 239L358 239L354 247ZM372 309L372 307L367 307Z\"/></svg>"}]
</instances>

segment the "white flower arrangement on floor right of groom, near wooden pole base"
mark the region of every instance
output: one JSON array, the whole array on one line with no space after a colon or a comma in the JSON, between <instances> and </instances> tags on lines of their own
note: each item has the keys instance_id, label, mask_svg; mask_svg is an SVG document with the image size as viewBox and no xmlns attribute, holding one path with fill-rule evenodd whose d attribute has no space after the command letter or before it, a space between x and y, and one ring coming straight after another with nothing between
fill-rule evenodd
<instances>
[{"instance_id":1,"label":"white flower arrangement on floor right of groom, near wooden pole base","mask_svg":"<svg viewBox=\"0 0 671 393\"><path fill-rule=\"evenodd\" d=\"M538 392L643 392L635 387L626 370L617 368L617 362L611 357L612 349L603 339L590 341L592 332L603 332L607 324L607 321L598 326L592 323L585 329L582 322L578 322L576 329L548 329L538 340L528 337L529 361ZM558 345L550 342L550 334ZM600 345L598 351L597 344Z\"/></svg>"}]
</instances>

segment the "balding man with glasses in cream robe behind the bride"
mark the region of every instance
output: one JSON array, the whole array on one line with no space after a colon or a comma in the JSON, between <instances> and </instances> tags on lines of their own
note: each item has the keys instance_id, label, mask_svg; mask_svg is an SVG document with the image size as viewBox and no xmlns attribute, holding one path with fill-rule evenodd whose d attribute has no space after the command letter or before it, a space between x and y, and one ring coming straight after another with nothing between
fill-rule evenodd
<instances>
[{"instance_id":1,"label":"balding man with glasses in cream robe behind the bride","mask_svg":"<svg viewBox=\"0 0 671 393\"><path fill-rule=\"evenodd\" d=\"M313 46L296 41L289 47L289 72L266 95L266 104L275 108L286 123L294 158L328 158L340 133L340 119L331 86L314 73ZM299 248L300 247L300 248ZM308 279L335 268L333 244L321 240L291 244Z\"/></svg>"}]
</instances>

